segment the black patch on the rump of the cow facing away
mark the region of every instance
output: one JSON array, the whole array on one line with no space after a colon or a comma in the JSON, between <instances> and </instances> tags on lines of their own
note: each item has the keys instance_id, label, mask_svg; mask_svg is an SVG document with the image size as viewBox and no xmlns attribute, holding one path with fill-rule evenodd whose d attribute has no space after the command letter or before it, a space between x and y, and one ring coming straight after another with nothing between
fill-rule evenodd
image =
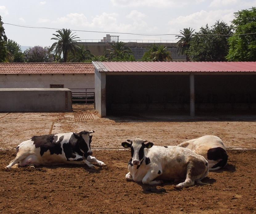
<instances>
[{"instance_id":1,"label":"black patch on the rump of the cow facing away","mask_svg":"<svg viewBox=\"0 0 256 214\"><path fill-rule=\"evenodd\" d=\"M228 161L228 155L225 149L221 147L216 147L209 149L207 152L207 158L209 160L220 160L217 162L214 166L209 168L210 170L218 170L226 166L227 161Z\"/></svg>"}]
</instances>

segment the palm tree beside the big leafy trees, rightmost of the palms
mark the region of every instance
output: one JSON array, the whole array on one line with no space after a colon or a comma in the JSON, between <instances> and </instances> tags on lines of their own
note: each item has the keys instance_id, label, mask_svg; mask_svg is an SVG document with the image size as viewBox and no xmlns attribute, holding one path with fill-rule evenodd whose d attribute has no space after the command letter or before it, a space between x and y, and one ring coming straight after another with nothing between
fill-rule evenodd
<instances>
[{"instance_id":1,"label":"palm tree beside the big leafy trees, rightmost of the palms","mask_svg":"<svg viewBox=\"0 0 256 214\"><path fill-rule=\"evenodd\" d=\"M177 48L179 50L179 52L181 54L185 54L185 51L189 49L189 43L190 41L192 40L193 38L193 32L194 30L192 30L193 28L190 29L189 28L184 28L183 31L180 30L180 33L182 35L177 35L176 39L180 39L178 42L177 42ZM186 60L189 61L189 56L186 54Z\"/></svg>"}]
</instances>

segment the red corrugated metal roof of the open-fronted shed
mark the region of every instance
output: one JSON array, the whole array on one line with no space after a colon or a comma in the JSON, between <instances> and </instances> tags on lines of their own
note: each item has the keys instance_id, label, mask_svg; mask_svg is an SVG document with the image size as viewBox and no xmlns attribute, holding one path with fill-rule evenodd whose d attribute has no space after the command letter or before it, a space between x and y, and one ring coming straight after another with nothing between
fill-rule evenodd
<instances>
[{"instance_id":1,"label":"red corrugated metal roof of the open-fronted shed","mask_svg":"<svg viewBox=\"0 0 256 214\"><path fill-rule=\"evenodd\" d=\"M100 62L94 62L94 64ZM256 62L101 62L100 72L255 72Z\"/></svg>"}]
</instances>

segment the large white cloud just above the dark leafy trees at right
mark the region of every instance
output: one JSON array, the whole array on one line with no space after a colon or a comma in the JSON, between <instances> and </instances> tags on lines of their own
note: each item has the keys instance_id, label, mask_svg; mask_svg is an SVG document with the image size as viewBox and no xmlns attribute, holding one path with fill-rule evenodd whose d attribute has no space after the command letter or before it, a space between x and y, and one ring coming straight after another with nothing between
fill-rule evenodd
<instances>
[{"instance_id":1,"label":"large white cloud just above the dark leafy trees at right","mask_svg":"<svg viewBox=\"0 0 256 214\"><path fill-rule=\"evenodd\" d=\"M174 18L170 20L168 24L173 29L177 30L176 32L172 33L177 33L179 32L179 30L188 27L192 27L193 29L198 31L201 26L205 26L206 24L212 26L217 20L223 20L228 25L230 25L230 21L232 21L233 19L233 10L201 10L200 12L196 12L187 16L179 16L177 18Z\"/></svg>"}]
</instances>

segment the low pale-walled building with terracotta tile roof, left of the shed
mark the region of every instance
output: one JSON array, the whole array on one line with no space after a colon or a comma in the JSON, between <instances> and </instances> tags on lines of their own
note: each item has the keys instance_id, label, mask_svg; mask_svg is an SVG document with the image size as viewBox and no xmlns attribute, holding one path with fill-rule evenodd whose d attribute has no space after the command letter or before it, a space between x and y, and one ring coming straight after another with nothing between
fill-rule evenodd
<instances>
[{"instance_id":1,"label":"low pale-walled building with terracotta tile roof, left of the shed","mask_svg":"<svg viewBox=\"0 0 256 214\"><path fill-rule=\"evenodd\" d=\"M0 88L94 89L92 63L0 63Z\"/></svg>"}]
</instances>

